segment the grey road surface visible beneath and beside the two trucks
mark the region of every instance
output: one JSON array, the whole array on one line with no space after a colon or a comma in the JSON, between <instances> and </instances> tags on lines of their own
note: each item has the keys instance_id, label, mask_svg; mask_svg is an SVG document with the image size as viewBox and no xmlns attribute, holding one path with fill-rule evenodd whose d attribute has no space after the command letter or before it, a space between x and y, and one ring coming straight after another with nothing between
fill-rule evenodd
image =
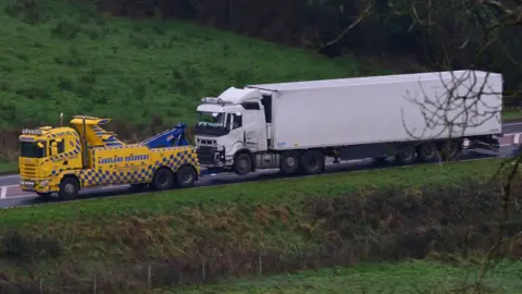
<instances>
[{"instance_id":1,"label":"grey road surface visible beneath and beside the two trucks","mask_svg":"<svg viewBox=\"0 0 522 294\"><path fill-rule=\"evenodd\" d=\"M492 151L467 151L460 160L474 160L496 157L509 157L519 148L522 135L522 122L505 123L505 136L500 140L500 152L493 154ZM382 169L393 167L393 163L377 164L373 160L352 160L334 164L328 162L326 164L326 173L336 172L353 172L370 169ZM212 186L225 185L252 181L268 181L282 177L277 170L264 170L250 173L246 176L238 176L236 174L217 174L202 176L196 186ZM39 205L49 201L44 201L34 193L23 192L18 187L20 176L17 174L0 176L0 208L12 208L17 206ZM100 198L108 196L123 196L136 194L128 185L105 186L98 188L86 188L80 192L77 200L85 200L90 198ZM51 201L52 203L52 201Z\"/></svg>"}]
</instances>

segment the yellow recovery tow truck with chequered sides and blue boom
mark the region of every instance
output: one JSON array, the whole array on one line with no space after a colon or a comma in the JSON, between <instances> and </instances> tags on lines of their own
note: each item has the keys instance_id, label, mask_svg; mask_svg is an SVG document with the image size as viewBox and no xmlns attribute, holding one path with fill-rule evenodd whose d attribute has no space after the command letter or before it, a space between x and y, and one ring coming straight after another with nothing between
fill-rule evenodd
<instances>
[{"instance_id":1,"label":"yellow recovery tow truck with chequered sides and blue boom","mask_svg":"<svg viewBox=\"0 0 522 294\"><path fill-rule=\"evenodd\" d=\"M200 174L196 149L188 146L186 124L139 144L126 145L101 127L110 119L75 115L74 126L23 130L18 168L22 191L63 200L86 187L129 184L166 189L189 187Z\"/></svg>"}]
</instances>

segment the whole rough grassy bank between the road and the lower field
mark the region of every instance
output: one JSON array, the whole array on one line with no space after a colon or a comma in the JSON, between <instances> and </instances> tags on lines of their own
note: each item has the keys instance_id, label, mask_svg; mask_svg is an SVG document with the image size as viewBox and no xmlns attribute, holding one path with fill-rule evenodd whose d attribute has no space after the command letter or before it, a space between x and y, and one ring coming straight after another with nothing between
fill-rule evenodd
<instances>
[{"instance_id":1,"label":"whole rough grassy bank between the road and the lower field","mask_svg":"<svg viewBox=\"0 0 522 294\"><path fill-rule=\"evenodd\" d=\"M419 166L3 210L0 272L5 285L25 292L37 291L40 279L63 293L92 291L96 277L98 291L142 293L147 285L216 282L252 273L467 258L494 245L502 195L499 180L486 181L501 162ZM520 191L520 185L513 187L513 195L521 196ZM514 211L520 200L509 201L510 213L520 213ZM517 222L508 229L508 235L522 230ZM501 246L508 257L522 254L508 245Z\"/></svg>"}]
</instances>

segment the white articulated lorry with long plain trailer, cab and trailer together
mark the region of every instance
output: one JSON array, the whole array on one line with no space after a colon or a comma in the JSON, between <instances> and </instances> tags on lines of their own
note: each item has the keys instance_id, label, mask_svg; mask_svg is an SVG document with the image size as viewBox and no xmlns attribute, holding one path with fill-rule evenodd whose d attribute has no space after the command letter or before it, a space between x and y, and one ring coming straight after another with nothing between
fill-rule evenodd
<instances>
[{"instance_id":1,"label":"white articulated lorry with long plain trailer, cab and trailer together","mask_svg":"<svg viewBox=\"0 0 522 294\"><path fill-rule=\"evenodd\" d=\"M464 140L498 148L501 93L502 76L480 71L231 87L197 108L198 158L213 172L316 174L325 157L409 164Z\"/></svg>"}]
</instances>

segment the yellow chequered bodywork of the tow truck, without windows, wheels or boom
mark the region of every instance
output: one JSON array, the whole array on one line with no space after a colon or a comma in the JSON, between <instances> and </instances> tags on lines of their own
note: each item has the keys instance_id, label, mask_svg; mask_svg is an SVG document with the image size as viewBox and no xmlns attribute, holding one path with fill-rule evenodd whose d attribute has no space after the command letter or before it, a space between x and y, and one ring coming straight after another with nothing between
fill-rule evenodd
<instances>
[{"instance_id":1,"label":"yellow chequered bodywork of the tow truck, without windows, wheels or boom","mask_svg":"<svg viewBox=\"0 0 522 294\"><path fill-rule=\"evenodd\" d=\"M72 127L40 127L38 132L33 132L38 134L26 132L21 135L22 144L40 143L42 151L50 150L53 140L58 139L61 144L57 155L18 157L21 188L37 193L59 192L60 182L66 175L74 175L82 188L151 183L159 168L166 167L175 173L186 164L199 175L200 166L195 147L149 149L139 144L125 145L115 139L114 134L99 128L99 121L90 118L90 124L86 123L87 152L82 144L83 125L78 125L82 123L78 119L71 121L77 131ZM87 168L83 167L82 160L85 154L88 158Z\"/></svg>"}]
</instances>

